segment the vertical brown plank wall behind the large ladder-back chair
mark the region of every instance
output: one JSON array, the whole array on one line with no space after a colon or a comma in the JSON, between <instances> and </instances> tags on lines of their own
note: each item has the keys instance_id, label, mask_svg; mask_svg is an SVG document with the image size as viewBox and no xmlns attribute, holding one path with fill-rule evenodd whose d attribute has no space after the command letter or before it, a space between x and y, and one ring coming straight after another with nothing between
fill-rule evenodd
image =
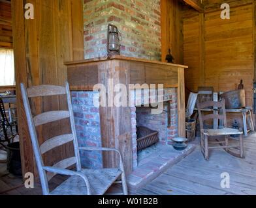
<instances>
[{"instance_id":1,"label":"vertical brown plank wall behind the large ladder-back chair","mask_svg":"<svg viewBox=\"0 0 256 208\"><path fill-rule=\"evenodd\" d=\"M24 19L24 5L32 3L35 19ZM27 86L64 85L67 80L65 61L84 59L82 1L15 0L12 1L14 59L18 97L18 125L21 140L22 170L36 172L31 140L27 129L20 83ZM65 99L35 99L33 113L67 108ZM69 122L52 123L38 129L40 143L69 131ZM71 145L56 148L44 158L47 165L72 154ZM47 159L46 159L47 158Z\"/></svg>"}]
</instances>

